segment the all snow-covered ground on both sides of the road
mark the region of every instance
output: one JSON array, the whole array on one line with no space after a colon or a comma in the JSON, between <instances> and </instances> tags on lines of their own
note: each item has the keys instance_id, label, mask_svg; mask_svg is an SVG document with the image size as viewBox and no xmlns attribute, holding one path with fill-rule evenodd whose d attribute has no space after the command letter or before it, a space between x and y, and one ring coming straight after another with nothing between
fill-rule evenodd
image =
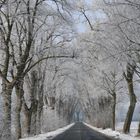
<instances>
[{"instance_id":1,"label":"all snow-covered ground on both sides of the road","mask_svg":"<svg viewBox=\"0 0 140 140\"><path fill-rule=\"evenodd\" d=\"M105 135L114 137L118 140L140 140L140 137L135 137L136 128L138 128L138 122L132 122L131 133L128 134L128 135L121 133L123 123L117 123L116 131L112 131L111 129L96 128L96 127L93 127L93 126L91 126L87 123L84 123L84 124L87 125L88 127L92 128L92 129L98 131L98 132L101 132ZM34 137L28 137L28 138L24 138L24 139L20 139L20 140L51 140L52 138L54 138L57 135L63 133L67 129L71 128L73 125L74 125L74 123L70 124L66 127L60 128L56 131L52 131L52 132L48 132L48 133L45 133L45 134L40 134L40 135L37 135L37 136L34 136Z\"/></svg>"}]
</instances>

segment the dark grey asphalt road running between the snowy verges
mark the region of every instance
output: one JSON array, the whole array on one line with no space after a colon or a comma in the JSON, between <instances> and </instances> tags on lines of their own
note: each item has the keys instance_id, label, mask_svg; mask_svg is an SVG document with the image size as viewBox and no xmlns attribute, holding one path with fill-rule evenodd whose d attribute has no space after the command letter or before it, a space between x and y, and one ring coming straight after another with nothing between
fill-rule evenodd
<instances>
[{"instance_id":1,"label":"dark grey asphalt road running between the snowy verges","mask_svg":"<svg viewBox=\"0 0 140 140\"><path fill-rule=\"evenodd\" d=\"M83 123L76 123L64 133L56 136L53 140L115 140L107 137Z\"/></svg>"}]
</instances>

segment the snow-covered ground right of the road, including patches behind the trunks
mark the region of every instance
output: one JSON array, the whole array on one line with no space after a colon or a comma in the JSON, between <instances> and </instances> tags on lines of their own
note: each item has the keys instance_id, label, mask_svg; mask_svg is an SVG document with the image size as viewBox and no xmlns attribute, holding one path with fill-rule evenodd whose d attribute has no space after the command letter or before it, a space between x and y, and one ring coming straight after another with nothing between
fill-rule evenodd
<instances>
[{"instance_id":1,"label":"snow-covered ground right of the road, including patches behind the trunks","mask_svg":"<svg viewBox=\"0 0 140 140\"><path fill-rule=\"evenodd\" d=\"M98 132L101 132L105 135L108 135L108 136L111 136L111 137L114 137L116 139L120 139L120 140L140 140L140 137L135 137L135 134L136 134L136 128L138 128L138 122L132 122L131 124L131 132L130 134L126 135L126 134L123 134L121 133L122 131L122 125L123 123L118 123L117 124L117 131L112 131L111 129L102 129L102 128L96 128L96 127L93 127L87 123L84 123L85 125L87 125L88 127L98 131Z\"/></svg>"}]
</instances>

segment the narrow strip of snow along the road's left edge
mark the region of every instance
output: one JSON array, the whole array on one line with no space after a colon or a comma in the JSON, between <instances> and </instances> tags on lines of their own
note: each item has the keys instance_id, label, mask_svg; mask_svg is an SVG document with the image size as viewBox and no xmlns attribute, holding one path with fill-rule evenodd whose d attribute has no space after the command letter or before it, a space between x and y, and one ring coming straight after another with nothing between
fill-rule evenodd
<instances>
[{"instance_id":1,"label":"narrow strip of snow along the road's left edge","mask_svg":"<svg viewBox=\"0 0 140 140\"><path fill-rule=\"evenodd\" d=\"M37 136L34 136L34 137L23 138L23 139L20 139L20 140L50 140L50 139L54 138L55 136L63 133L67 129L71 128L73 125L74 125L74 123L72 123L70 125L67 125L63 128L59 128L55 131L51 131L51 132L48 132L48 133L45 133L45 134L40 134L40 135L37 135Z\"/></svg>"}]
</instances>

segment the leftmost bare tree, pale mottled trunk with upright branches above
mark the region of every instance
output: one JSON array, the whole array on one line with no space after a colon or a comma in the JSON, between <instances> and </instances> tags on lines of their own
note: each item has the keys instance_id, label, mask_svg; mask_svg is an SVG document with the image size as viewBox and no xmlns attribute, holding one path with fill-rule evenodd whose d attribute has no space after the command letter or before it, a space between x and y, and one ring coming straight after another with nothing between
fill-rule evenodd
<instances>
[{"instance_id":1,"label":"leftmost bare tree, pale mottled trunk with upright branches above","mask_svg":"<svg viewBox=\"0 0 140 140\"><path fill-rule=\"evenodd\" d=\"M17 7L12 11L10 11L10 4L13 2L13 5ZM12 81L9 80L9 66L11 63L11 35L13 31L13 26L15 22L15 16L18 11L19 3L15 1L3 1L4 6L0 9L0 34L1 34L1 49L4 49L4 62L1 65L2 68L0 70L0 76L2 78L2 96L4 100L4 126L3 126L3 134L2 136L5 139L11 139L11 95L12 90L15 85L15 79Z\"/></svg>"}]
</instances>

